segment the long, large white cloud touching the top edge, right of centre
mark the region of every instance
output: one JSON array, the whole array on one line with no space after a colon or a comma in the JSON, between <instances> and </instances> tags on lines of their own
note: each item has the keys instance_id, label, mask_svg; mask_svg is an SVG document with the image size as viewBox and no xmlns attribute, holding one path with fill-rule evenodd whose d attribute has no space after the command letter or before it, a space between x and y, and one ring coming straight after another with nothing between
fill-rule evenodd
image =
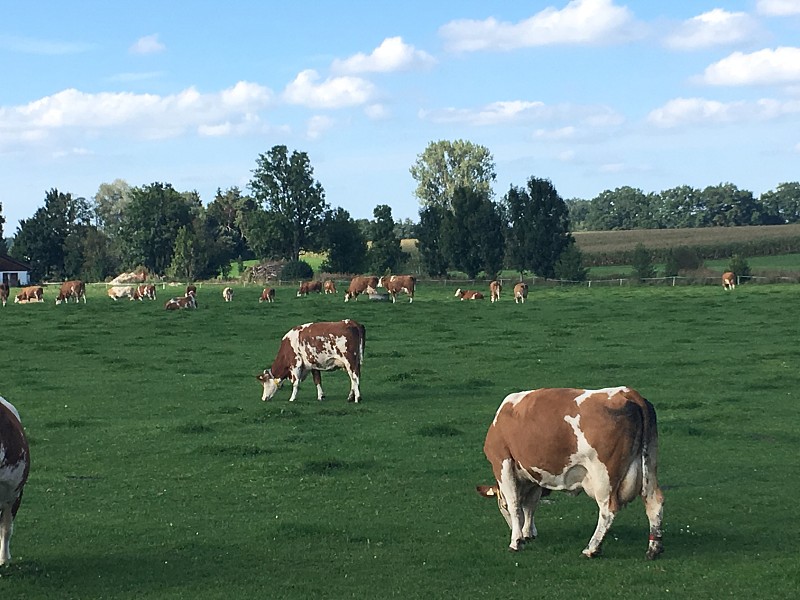
<instances>
[{"instance_id":1,"label":"long, large white cloud touching the top edge, right of centre","mask_svg":"<svg viewBox=\"0 0 800 600\"><path fill-rule=\"evenodd\" d=\"M513 50L552 44L608 44L632 36L633 15L613 0L572 0L561 10L546 8L519 23L451 21L439 29L455 52Z\"/></svg>"}]
</instances>

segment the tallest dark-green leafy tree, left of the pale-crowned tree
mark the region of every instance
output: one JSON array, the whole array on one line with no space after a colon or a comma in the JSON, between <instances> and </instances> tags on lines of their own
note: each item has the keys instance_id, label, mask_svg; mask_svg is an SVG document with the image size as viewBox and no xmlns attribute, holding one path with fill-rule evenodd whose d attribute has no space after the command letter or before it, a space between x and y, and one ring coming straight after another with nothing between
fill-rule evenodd
<instances>
[{"instance_id":1,"label":"tallest dark-green leafy tree, left of the pale-crowned tree","mask_svg":"<svg viewBox=\"0 0 800 600\"><path fill-rule=\"evenodd\" d=\"M273 222L278 253L297 260L301 250L317 249L329 207L308 155L294 150L289 156L286 146L273 146L256 165L250 189Z\"/></svg>"}]
</instances>

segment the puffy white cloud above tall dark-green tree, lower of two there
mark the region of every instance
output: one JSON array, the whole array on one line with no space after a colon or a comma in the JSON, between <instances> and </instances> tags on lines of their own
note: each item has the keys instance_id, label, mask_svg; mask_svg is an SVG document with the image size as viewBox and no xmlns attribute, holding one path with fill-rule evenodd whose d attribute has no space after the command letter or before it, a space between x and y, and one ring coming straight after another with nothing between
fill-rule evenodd
<instances>
[{"instance_id":1,"label":"puffy white cloud above tall dark-green tree, lower of two there","mask_svg":"<svg viewBox=\"0 0 800 600\"><path fill-rule=\"evenodd\" d=\"M369 102L374 86L360 77L330 77L317 83L319 74L313 69L302 71L286 86L283 98L289 104L309 108L344 108Z\"/></svg>"}]
</instances>

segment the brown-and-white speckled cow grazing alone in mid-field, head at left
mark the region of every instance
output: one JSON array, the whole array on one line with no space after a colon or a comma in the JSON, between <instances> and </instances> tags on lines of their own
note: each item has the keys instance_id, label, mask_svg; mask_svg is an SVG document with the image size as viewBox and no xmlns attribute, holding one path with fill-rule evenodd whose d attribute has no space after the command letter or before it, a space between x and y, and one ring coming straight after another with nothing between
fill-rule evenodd
<instances>
[{"instance_id":1,"label":"brown-and-white speckled cow grazing alone in mid-field, head at left","mask_svg":"<svg viewBox=\"0 0 800 600\"><path fill-rule=\"evenodd\" d=\"M292 382L292 395L297 397L300 382L308 372L317 386L317 399L322 400L322 375L320 371L344 369L350 377L348 402L359 402L361 390L361 361L364 357L366 332L356 321L306 323L290 329L281 339L280 348L272 367L265 369L257 378L264 386L262 400L269 400L278 391L284 379Z\"/></svg>"}]
</instances>

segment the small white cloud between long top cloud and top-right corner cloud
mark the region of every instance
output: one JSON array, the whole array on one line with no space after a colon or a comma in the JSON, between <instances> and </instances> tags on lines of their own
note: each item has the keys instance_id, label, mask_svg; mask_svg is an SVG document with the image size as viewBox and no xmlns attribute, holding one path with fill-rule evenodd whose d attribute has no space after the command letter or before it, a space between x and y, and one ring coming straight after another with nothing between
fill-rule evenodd
<instances>
[{"instance_id":1,"label":"small white cloud between long top cloud and top-right corner cloud","mask_svg":"<svg viewBox=\"0 0 800 600\"><path fill-rule=\"evenodd\" d=\"M677 50L695 50L746 41L756 30L750 15L715 8L681 23L664 43Z\"/></svg>"}]
</instances>

